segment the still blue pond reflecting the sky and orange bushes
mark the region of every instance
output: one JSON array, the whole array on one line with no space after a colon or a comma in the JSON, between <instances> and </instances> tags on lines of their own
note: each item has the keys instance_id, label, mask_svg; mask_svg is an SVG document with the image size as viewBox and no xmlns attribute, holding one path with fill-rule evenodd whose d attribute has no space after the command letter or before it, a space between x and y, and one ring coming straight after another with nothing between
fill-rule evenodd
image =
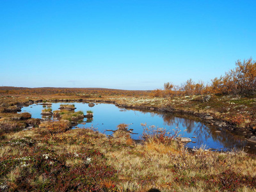
<instances>
[{"instance_id":1,"label":"still blue pond reflecting the sky and orange bushes","mask_svg":"<svg viewBox=\"0 0 256 192\"><path fill-rule=\"evenodd\" d=\"M220 130L218 127L210 126L204 122L192 120L191 118L184 118L182 116L175 116L170 113L156 113L156 112L144 112L134 111L131 109L121 109L113 104L95 104L93 107L89 107L87 103L82 102L58 102L52 103L52 106L42 106L33 104L28 107L22 108L23 112L31 113L32 118L42 118L42 109L52 108L52 111L58 110L60 104L74 104L75 111L83 111L86 115L86 111L93 111L93 119L88 122L84 118L81 124L77 124L75 127L87 128L94 127L98 131L105 134L112 134L113 132L107 130L116 130L116 126L119 124L128 124L129 129L134 129L131 137L134 140L140 140L143 133L143 126L141 124L147 124L148 126L155 125L172 132L179 131L179 135L182 137L191 138L186 146L189 148L211 148L213 150L232 150L239 148L248 151L255 152L255 144L247 142L243 136L236 136L228 131ZM221 131L221 132L218 132Z\"/></svg>"}]
</instances>

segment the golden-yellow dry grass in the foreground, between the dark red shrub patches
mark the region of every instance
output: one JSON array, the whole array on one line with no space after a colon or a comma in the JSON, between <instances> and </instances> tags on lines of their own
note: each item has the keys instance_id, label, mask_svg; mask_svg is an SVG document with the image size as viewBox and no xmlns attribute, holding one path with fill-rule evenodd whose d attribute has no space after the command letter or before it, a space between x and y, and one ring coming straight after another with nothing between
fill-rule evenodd
<instances>
[{"instance_id":1,"label":"golden-yellow dry grass in the foreground, between the dark red shrub patches","mask_svg":"<svg viewBox=\"0 0 256 192\"><path fill-rule=\"evenodd\" d=\"M205 186L207 179L204 178L213 177L218 180L217 175L227 170L250 177L255 177L256 173L255 157L250 157L244 152L228 154L200 149L191 153L185 148L180 149L175 141L172 145L167 145L148 140L141 145L134 143L130 138L108 139L104 134L90 129L73 129L56 133L54 136L45 134L42 130L44 128L6 134L5 140L19 140L26 136L34 138L35 147L46 148L58 156L72 154L65 159L65 166L73 168L83 166L84 160L79 159L79 151L97 149L104 154L106 163L117 173L116 181L102 178L100 185L106 188L116 186L120 191L147 191L151 188L161 189L161 191L220 191L220 186L216 186L214 182L209 182ZM42 140L40 134L46 136L47 140ZM68 140L68 138L75 138L75 140ZM4 145L1 147L0 157L6 155L22 157L25 150L26 148L17 145ZM100 163L102 159L92 161ZM13 182L13 189L22 169L18 166L6 175L6 180ZM185 180L180 180L183 177ZM189 179L193 178L197 178L196 182L190 185ZM47 183L49 180L44 175L31 180L33 186L42 186ZM184 183L188 184L184 185ZM253 191L252 188L246 188L243 185L237 188L237 191L243 190Z\"/></svg>"}]
</instances>

